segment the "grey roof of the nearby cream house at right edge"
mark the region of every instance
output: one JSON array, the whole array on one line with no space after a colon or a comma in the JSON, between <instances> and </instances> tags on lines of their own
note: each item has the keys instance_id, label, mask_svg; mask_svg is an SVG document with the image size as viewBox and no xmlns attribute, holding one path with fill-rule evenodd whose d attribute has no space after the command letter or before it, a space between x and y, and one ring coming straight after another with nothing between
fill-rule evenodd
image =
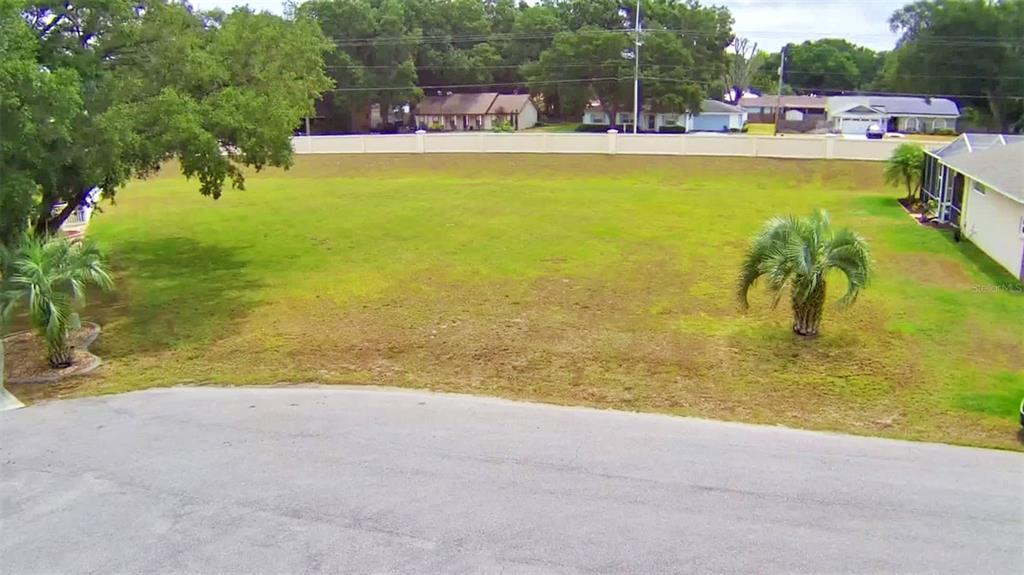
<instances>
[{"instance_id":1,"label":"grey roof of the nearby cream house at right edge","mask_svg":"<svg viewBox=\"0 0 1024 575\"><path fill-rule=\"evenodd\" d=\"M1024 136L964 134L932 153L953 170L1024 204Z\"/></svg>"}]
</instances>

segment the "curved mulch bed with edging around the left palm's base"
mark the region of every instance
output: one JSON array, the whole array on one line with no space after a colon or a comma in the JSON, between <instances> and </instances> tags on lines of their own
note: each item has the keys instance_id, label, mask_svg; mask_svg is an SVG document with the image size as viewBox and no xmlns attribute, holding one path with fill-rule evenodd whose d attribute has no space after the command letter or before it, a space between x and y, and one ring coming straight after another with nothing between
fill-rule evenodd
<instances>
[{"instance_id":1,"label":"curved mulch bed with edging around the left palm's base","mask_svg":"<svg viewBox=\"0 0 1024 575\"><path fill-rule=\"evenodd\" d=\"M19 331L4 338L7 383L49 384L65 378L83 375L99 367L102 361L89 353L89 345L99 336L99 325L83 322L71 336L72 364L54 369L46 361L46 344L35 331Z\"/></svg>"}]
</instances>

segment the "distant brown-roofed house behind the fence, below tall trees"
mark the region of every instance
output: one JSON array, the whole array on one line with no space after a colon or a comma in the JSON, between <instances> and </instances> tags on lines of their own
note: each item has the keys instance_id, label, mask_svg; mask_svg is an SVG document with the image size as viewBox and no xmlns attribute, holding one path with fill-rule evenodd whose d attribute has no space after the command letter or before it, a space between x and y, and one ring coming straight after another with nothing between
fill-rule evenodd
<instances>
[{"instance_id":1,"label":"distant brown-roofed house behind the fence, below tall trees","mask_svg":"<svg viewBox=\"0 0 1024 575\"><path fill-rule=\"evenodd\" d=\"M417 127L452 132L490 130L508 122L515 130L537 125L538 109L528 94L446 94L427 96L414 114Z\"/></svg>"}]
</instances>

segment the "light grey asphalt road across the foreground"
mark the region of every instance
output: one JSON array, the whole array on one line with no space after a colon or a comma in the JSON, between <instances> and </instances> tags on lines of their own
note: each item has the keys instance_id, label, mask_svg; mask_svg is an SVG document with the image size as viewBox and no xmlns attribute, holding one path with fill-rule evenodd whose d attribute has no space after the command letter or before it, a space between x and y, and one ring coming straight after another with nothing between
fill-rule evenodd
<instances>
[{"instance_id":1,"label":"light grey asphalt road across the foreground","mask_svg":"<svg viewBox=\"0 0 1024 575\"><path fill-rule=\"evenodd\" d=\"M0 414L0 572L1021 573L1024 456L497 399Z\"/></svg>"}]
</instances>

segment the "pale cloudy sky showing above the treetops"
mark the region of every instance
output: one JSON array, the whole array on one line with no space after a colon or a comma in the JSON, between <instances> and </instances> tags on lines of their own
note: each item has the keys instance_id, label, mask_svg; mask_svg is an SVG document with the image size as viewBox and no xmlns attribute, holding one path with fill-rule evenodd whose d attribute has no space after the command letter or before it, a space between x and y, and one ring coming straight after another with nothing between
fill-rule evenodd
<instances>
[{"instance_id":1,"label":"pale cloudy sky showing above the treetops","mask_svg":"<svg viewBox=\"0 0 1024 575\"><path fill-rule=\"evenodd\" d=\"M876 50L893 47L889 32L892 12L909 0L707 0L729 7L736 34L757 42L762 49L777 50L787 42L816 38L846 38ZM284 0L191 0L201 8L253 8L281 12Z\"/></svg>"}]
</instances>

